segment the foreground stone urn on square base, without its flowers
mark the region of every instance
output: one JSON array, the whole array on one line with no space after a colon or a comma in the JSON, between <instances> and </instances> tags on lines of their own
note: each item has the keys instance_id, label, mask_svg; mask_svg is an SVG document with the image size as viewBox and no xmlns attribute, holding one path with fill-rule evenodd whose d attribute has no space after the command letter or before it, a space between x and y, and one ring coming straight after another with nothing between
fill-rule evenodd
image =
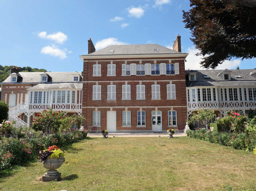
<instances>
[{"instance_id":1,"label":"foreground stone urn on square base, without its flowers","mask_svg":"<svg viewBox=\"0 0 256 191\"><path fill-rule=\"evenodd\" d=\"M61 173L58 172L56 169L60 168L62 163L65 162L65 158L63 156L61 157L48 157L45 161L43 161L43 167L47 170L45 175L42 177L43 182L49 182L49 181L60 181L60 175Z\"/></svg>"}]
</instances>

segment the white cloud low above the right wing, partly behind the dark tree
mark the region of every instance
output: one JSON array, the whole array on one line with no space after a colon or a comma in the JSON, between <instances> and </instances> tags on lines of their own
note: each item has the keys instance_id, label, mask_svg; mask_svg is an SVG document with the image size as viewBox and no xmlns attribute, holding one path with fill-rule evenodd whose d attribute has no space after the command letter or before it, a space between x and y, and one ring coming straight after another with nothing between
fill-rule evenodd
<instances>
[{"instance_id":1,"label":"white cloud low above the right wing, partly behind the dark tree","mask_svg":"<svg viewBox=\"0 0 256 191\"><path fill-rule=\"evenodd\" d=\"M202 61L203 56L196 56L195 54L199 52L199 50L195 49L194 46L189 47L186 51L188 54L185 63L186 69L206 69L202 68L200 62ZM222 64L218 65L216 69L235 69L237 66L241 64L241 60L225 60Z\"/></svg>"}]
</instances>

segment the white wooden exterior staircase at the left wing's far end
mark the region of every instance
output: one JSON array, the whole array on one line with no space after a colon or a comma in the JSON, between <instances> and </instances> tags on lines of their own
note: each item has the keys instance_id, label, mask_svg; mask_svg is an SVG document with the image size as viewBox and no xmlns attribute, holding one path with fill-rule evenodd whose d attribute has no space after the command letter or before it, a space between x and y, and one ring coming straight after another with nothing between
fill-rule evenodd
<instances>
[{"instance_id":1,"label":"white wooden exterior staircase at the left wing's far end","mask_svg":"<svg viewBox=\"0 0 256 191\"><path fill-rule=\"evenodd\" d=\"M9 110L9 120L15 121L15 127L18 128L20 126L28 126L27 123L25 123L23 120L21 120L18 116L20 116L22 113L28 111L28 103L19 103L14 108Z\"/></svg>"}]
</instances>

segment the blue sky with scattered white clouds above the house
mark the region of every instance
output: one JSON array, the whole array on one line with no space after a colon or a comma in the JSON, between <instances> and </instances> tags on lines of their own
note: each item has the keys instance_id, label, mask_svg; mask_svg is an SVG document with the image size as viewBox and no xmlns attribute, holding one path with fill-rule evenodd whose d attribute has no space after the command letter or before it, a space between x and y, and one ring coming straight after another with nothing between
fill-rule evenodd
<instances>
[{"instance_id":1,"label":"blue sky with scattered white clouds above the house","mask_svg":"<svg viewBox=\"0 0 256 191\"><path fill-rule=\"evenodd\" d=\"M200 58L182 23L188 0L0 1L0 65L47 71L82 71L80 55L88 39L96 49L110 44L157 43L171 47L181 36L186 68L200 69ZM255 60L225 61L217 69L255 68Z\"/></svg>"}]
</instances>

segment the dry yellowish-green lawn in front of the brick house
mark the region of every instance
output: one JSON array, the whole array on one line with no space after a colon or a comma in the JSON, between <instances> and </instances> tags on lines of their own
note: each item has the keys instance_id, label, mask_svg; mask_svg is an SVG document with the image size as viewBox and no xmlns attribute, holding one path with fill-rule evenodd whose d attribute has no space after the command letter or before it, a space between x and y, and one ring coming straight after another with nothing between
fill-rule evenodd
<instances>
[{"instance_id":1,"label":"dry yellowish-green lawn in front of the brick house","mask_svg":"<svg viewBox=\"0 0 256 191\"><path fill-rule=\"evenodd\" d=\"M255 155L188 137L87 138L66 150L60 182L40 162L0 173L0 190L256 190Z\"/></svg>"}]
</instances>

